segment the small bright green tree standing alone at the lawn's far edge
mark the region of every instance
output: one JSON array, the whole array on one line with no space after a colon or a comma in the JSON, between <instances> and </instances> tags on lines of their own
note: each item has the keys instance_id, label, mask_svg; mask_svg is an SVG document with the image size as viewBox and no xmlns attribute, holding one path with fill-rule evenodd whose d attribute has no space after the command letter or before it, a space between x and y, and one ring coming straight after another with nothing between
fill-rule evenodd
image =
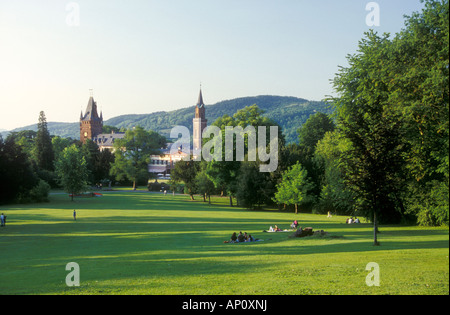
<instances>
[{"instance_id":1,"label":"small bright green tree standing alone at the lawn's far edge","mask_svg":"<svg viewBox=\"0 0 450 315\"><path fill-rule=\"evenodd\" d=\"M273 200L286 205L295 205L295 214L297 214L298 206L310 201L311 189L312 184L308 179L308 172L300 163L297 163L283 173L282 181L277 185L277 192Z\"/></svg>"}]
</instances>

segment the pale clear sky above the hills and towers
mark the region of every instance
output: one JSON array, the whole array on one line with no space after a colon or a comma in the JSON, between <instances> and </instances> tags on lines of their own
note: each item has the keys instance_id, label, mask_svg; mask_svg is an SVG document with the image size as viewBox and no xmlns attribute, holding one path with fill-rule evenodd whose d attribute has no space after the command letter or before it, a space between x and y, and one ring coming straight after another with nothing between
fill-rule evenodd
<instances>
[{"instance_id":1,"label":"pale clear sky above the hills and towers","mask_svg":"<svg viewBox=\"0 0 450 315\"><path fill-rule=\"evenodd\" d=\"M0 0L0 129L243 96L321 100L366 25L365 0ZM399 32L419 0L375 1ZM79 8L79 24L72 19ZM68 9L68 10L66 10Z\"/></svg>"}]
</instances>

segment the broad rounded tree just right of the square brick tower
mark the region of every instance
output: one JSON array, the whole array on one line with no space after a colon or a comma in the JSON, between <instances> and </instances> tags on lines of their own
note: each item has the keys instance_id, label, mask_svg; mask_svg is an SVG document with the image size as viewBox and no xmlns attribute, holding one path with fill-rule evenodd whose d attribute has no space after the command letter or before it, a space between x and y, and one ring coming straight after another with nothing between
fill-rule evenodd
<instances>
[{"instance_id":1,"label":"broad rounded tree just right of the square brick tower","mask_svg":"<svg viewBox=\"0 0 450 315\"><path fill-rule=\"evenodd\" d=\"M166 139L154 131L142 127L127 130L123 139L114 143L114 163L110 174L117 180L128 179L136 189L138 179L148 179L148 163L152 154L159 154L166 144Z\"/></svg>"}]
</instances>

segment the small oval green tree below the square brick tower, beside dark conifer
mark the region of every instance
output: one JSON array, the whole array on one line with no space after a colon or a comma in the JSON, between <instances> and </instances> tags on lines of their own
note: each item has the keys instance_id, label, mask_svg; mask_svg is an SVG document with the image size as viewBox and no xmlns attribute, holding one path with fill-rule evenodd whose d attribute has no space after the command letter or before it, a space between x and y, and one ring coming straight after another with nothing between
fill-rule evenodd
<instances>
[{"instance_id":1,"label":"small oval green tree below the square brick tower, beside dark conifer","mask_svg":"<svg viewBox=\"0 0 450 315\"><path fill-rule=\"evenodd\" d=\"M55 169L61 186L71 194L72 201L76 194L86 190L89 171L81 150L75 144L64 149L55 163Z\"/></svg>"}]
</instances>

